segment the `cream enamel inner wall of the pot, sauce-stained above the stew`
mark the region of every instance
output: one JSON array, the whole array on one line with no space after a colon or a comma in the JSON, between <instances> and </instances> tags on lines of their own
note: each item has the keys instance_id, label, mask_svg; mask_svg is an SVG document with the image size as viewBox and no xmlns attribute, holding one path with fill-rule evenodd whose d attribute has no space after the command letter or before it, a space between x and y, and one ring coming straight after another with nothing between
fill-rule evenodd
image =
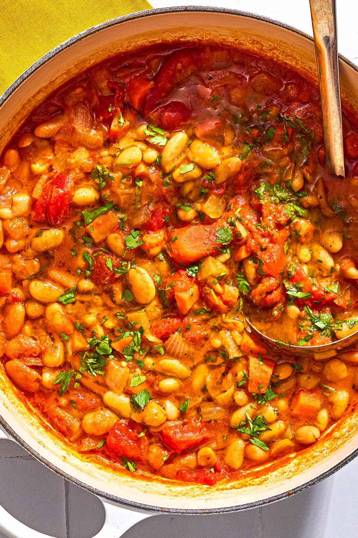
<instances>
[{"instance_id":1,"label":"cream enamel inner wall of the pot, sauce-stained above the stew","mask_svg":"<svg viewBox=\"0 0 358 538\"><path fill-rule=\"evenodd\" d=\"M83 37L28 76L0 108L0 152L29 112L65 80L108 56L157 43L163 36L165 41L200 39L241 46L293 66L309 79L317 80L312 41L287 28L232 13L149 12L145 17L119 20ZM341 60L340 75L344 108L356 110L358 73ZM243 476L238 483L209 488L165 480L138 480L134 475L119 475L110 468L89 463L63 444L49 427L42 426L17 397L17 390L6 378L3 367L0 367L0 415L35 452L69 477L105 495L126 499L129 504L139 502L164 511L240 509L251 502L290 494L339 464L358 447L358 416L352 412L309 451L286 457L280 466L272 465L266 476L251 474Z\"/></svg>"}]
</instances>

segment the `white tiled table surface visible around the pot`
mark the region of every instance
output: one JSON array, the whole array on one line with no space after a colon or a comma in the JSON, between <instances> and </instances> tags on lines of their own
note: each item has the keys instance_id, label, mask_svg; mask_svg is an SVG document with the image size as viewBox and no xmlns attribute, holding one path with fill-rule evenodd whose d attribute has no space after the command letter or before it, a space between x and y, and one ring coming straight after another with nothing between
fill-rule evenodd
<instances>
[{"instance_id":1,"label":"white tiled table surface visible around the pot","mask_svg":"<svg viewBox=\"0 0 358 538\"><path fill-rule=\"evenodd\" d=\"M337 0L339 51L358 60L357 0ZM152 0L155 8L189 5ZM192 0L190 5L223 5ZM225 7L281 20L312 34L308 0L230 0ZM0 504L20 521L59 538L90 538L104 522L91 493L65 482L11 441L0 440ZM358 458L289 499L251 511L214 516L158 515L123 538L357 538ZM5 538L0 533L0 538ZM26 538L25 536L23 538Z\"/></svg>"}]
</instances>

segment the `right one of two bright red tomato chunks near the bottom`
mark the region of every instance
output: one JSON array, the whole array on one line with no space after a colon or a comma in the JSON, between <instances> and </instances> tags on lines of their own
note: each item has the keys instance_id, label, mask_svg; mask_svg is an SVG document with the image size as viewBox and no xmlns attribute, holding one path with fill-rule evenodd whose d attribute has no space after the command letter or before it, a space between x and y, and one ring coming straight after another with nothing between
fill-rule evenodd
<instances>
[{"instance_id":1,"label":"right one of two bright red tomato chunks near the bottom","mask_svg":"<svg viewBox=\"0 0 358 538\"><path fill-rule=\"evenodd\" d=\"M210 435L201 422L191 417L187 422L173 422L161 431L163 443L180 454L188 448L208 441Z\"/></svg>"}]
</instances>

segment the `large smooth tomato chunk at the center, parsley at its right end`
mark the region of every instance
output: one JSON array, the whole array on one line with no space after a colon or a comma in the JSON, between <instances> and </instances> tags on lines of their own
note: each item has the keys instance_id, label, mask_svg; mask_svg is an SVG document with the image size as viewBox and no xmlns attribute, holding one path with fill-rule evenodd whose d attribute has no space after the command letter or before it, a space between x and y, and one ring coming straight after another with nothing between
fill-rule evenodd
<instances>
[{"instance_id":1,"label":"large smooth tomato chunk at the center, parsley at its right end","mask_svg":"<svg viewBox=\"0 0 358 538\"><path fill-rule=\"evenodd\" d=\"M177 263L190 264L220 249L216 232L220 225L203 226L194 224L176 228L169 234L169 254Z\"/></svg>"}]
</instances>

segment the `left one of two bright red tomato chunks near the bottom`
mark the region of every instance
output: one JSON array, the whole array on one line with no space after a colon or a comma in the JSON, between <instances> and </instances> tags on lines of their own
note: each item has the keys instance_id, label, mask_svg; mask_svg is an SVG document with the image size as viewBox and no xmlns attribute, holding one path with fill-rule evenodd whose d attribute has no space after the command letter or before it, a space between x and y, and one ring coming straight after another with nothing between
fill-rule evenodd
<instances>
[{"instance_id":1,"label":"left one of two bright red tomato chunks near the bottom","mask_svg":"<svg viewBox=\"0 0 358 538\"><path fill-rule=\"evenodd\" d=\"M147 454L147 436L138 435L143 430L143 424L137 424L133 420L118 420L109 430L106 447L109 452L116 456L143 461Z\"/></svg>"}]
</instances>

